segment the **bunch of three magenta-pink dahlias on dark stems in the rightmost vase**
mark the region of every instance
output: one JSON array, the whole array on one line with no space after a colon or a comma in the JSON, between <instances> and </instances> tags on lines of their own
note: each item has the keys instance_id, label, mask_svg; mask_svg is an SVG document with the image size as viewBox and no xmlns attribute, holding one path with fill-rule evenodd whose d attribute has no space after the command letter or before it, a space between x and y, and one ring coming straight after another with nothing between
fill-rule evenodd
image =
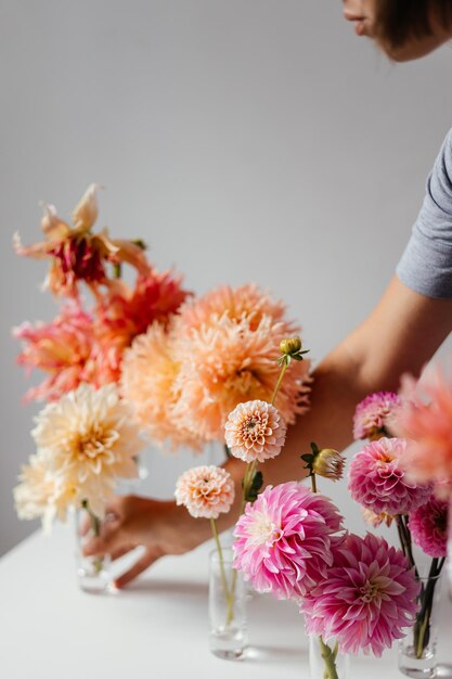
<instances>
[{"instance_id":1,"label":"bunch of three magenta-pink dahlias on dark stems in the rightmost vase","mask_svg":"<svg viewBox=\"0 0 452 679\"><path fill-rule=\"evenodd\" d=\"M404 398L388 392L372 394L357 407L354 435L370 443L351 461L349 490L373 526L383 522L397 525L403 553L421 584L413 654L422 659L428 652L435 589L445 561L448 504L436 497L438 484L432 482L438 477L413 478L408 461L410 441L390 436L391 431L400 431L401 413L410 408ZM435 453L430 448L426 457L431 459ZM426 576L416 565L413 543L431 558Z\"/></svg>"}]
</instances>

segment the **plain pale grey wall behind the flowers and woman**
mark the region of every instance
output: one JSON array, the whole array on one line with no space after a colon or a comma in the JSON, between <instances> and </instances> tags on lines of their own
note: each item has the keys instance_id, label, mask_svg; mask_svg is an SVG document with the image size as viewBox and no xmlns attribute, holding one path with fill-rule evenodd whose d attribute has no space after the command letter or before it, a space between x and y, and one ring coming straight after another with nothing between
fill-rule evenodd
<instances>
[{"instance_id":1,"label":"plain pale grey wall behind the flowers and woman","mask_svg":"<svg viewBox=\"0 0 452 679\"><path fill-rule=\"evenodd\" d=\"M320 359L371 310L452 121L452 52L392 66L339 0L0 0L0 553L36 527L11 489L36 406L10 329L50 320L38 201L142 236L204 292L256 281ZM35 381L36 382L36 381ZM153 458L169 496L182 460ZM346 486L335 492L350 515Z\"/></svg>"}]
</instances>

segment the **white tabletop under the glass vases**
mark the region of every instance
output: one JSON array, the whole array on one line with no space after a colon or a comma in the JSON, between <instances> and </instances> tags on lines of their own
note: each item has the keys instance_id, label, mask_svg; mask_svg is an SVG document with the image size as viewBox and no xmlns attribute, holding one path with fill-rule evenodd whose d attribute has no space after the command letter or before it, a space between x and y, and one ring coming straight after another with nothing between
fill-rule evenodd
<instances>
[{"instance_id":1,"label":"white tabletop under the glass vases","mask_svg":"<svg viewBox=\"0 0 452 679\"><path fill-rule=\"evenodd\" d=\"M207 552L162 559L115 595L78 589L68 526L40 531L0 560L1 679L308 679L302 618L289 602L255 595L247 657L208 650ZM452 603L441 606L442 677L452 677ZM398 679L397 652L351 658L351 676Z\"/></svg>"}]
</instances>

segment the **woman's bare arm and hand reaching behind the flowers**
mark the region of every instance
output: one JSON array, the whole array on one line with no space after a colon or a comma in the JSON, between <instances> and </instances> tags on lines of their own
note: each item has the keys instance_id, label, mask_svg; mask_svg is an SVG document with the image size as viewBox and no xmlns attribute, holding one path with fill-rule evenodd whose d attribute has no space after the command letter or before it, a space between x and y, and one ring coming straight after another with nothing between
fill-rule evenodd
<instances>
[{"instance_id":1,"label":"woman's bare arm and hand reaching behind the flowers","mask_svg":"<svg viewBox=\"0 0 452 679\"><path fill-rule=\"evenodd\" d=\"M352 440L357 403L371 392L397 389L404 372L418 374L452 330L452 299L434 299L413 292L393 278L369 318L348 335L313 373L311 408L288 430L282 453L262 466L266 485L305 475L300 454L310 441L344 449ZM218 520L220 530L237 518L244 464L228 460L224 467L236 486L236 501ZM208 522L192 518L173 501L127 497L112 503L115 518L92 540L87 553L118 556L138 545L146 551L117 580L122 587L164 554L180 554L210 537Z\"/></svg>"}]
</instances>

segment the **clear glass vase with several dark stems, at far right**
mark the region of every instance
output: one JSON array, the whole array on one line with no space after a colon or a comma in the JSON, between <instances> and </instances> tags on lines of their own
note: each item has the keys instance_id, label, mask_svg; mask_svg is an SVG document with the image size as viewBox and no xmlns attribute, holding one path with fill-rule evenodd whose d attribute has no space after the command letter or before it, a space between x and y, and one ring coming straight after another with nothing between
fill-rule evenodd
<instances>
[{"instance_id":1,"label":"clear glass vase with several dark stems, at far right","mask_svg":"<svg viewBox=\"0 0 452 679\"><path fill-rule=\"evenodd\" d=\"M440 579L438 574L418 578L421 591L416 620L399 641L399 669L408 677L436 676Z\"/></svg>"}]
</instances>

